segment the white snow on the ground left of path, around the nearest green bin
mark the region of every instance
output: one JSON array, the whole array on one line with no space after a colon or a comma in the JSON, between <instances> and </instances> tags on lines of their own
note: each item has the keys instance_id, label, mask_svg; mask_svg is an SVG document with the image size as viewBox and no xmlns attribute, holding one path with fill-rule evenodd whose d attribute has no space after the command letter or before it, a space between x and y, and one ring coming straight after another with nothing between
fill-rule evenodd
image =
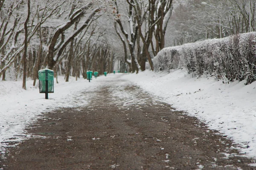
<instances>
[{"instance_id":1,"label":"white snow on the ground left of path, around the nearest green bin","mask_svg":"<svg viewBox=\"0 0 256 170\"><path fill-rule=\"evenodd\" d=\"M49 94L49 99L39 93L38 84L33 86L33 80L27 80L27 90L22 89L22 81L0 81L0 152L5 153L8 142L29 138L24 129L41 113L60 107L86 105L93 95L86 91L99 88L98 80L108 77L93 78L91 82L86 79L76 81L74 77L65 82L64 77L58 77L59 83L55 80L54 93Z\"/></svg>"}]
</instances>

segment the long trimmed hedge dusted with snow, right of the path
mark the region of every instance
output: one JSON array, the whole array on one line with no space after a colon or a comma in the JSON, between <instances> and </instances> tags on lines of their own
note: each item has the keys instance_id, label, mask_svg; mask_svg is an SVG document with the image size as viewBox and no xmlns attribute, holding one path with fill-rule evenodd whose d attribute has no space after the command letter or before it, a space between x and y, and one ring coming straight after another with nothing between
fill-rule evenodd
<instances>
[{"instance_id":1,"label":"long trimmed hedge dusted with snow, right of the path","mask_svg":"<svg viewBox=\"0 0 256 170\"><path fill-rule=\"evenodd\" d=\"M256 80L256 32L204 40L161 50L154 57L156 71L186 66L189 73L209 73L229 81Z\"/></svg>"}]
</instances>

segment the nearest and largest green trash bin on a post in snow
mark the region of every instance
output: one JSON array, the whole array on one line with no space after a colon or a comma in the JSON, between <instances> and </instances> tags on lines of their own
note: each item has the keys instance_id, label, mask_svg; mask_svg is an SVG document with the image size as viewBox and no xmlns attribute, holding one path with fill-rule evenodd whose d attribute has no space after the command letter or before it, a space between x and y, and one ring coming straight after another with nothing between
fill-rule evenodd
<instances>
[{"instance_id":1,"label":"nearest and largest green trash bin on a post in snow","mask_svg":"<svg viewBox=\"0 0 256 170\"><path fill-rule=\"evenodd\" d=\"M48 99L48 93L54 93L54 71L42 69L38 71L39 93L45 93L45 99Z\"/></svg>"}]
</instances>

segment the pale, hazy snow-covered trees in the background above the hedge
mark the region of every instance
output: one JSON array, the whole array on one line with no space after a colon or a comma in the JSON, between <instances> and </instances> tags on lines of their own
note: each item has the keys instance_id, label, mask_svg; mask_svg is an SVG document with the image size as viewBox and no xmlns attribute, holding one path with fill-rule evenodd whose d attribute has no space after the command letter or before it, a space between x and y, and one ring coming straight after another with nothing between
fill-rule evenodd
<instances>
[{"instance_id":1,"label":"pale, hazy snow-covered trees in the background above the hedge","mask_svg":"<svg viewBox=\"0 0 256 170\"><path fill-rule=\"evenodd\" d=\"M169 46L256 30L255 0L179 0L174 7Z\"/></svg>"}]
</instances>

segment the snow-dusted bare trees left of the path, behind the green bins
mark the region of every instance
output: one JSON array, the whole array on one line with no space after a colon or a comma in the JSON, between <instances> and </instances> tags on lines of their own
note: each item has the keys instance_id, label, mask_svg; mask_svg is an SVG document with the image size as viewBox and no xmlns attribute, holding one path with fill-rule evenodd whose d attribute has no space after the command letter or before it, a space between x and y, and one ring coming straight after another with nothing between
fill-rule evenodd
<instances>
[{"instance_id":1,"label":"snow-dusted bare trees left of the path, behind the green bins","mask_svg":"<svg viewBox=\"0 0 256 170\"><path fill-rule=\"evenodd\" d=\"M57 74L86 77L87 70L111 71L111 46L97 19L104 4L57 0L2 0L0 4L0 76L38 77L49 68ZM109 69L109 70L108 70ZM81 75L80 75L81 74Z\"/></svg>"}]
</instances>

